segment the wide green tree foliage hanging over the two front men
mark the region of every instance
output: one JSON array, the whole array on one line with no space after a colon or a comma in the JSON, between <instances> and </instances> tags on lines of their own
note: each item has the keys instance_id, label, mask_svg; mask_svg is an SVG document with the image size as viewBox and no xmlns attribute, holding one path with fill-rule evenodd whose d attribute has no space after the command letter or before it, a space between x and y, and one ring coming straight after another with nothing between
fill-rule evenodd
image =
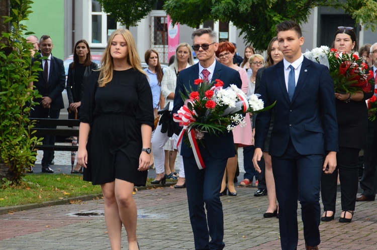
<instances>
[{"instance_id":1,"label":"wide green tree foliage hanging over the two front men","mask_svg":"<svg viewBox=\"0 0 377 250\"><path fill-rule=\"evenodd\" d=\"M302 25L318 6L343 8L366 28L376 26L377 3L372 0L166 0L164 10L173 22L193 28L211 19L231 21L246 42L264 50L276 35L276 24L295 20Z\"/></svg>"}]
</instances>

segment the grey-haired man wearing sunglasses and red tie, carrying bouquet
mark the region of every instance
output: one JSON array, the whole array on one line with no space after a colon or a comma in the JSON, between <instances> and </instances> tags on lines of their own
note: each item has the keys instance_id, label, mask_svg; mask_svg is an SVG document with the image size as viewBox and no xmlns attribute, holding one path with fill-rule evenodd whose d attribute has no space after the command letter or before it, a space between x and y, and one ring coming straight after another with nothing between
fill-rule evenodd
<instances>
[{"instance_id":1,"label":"grey-haired man wearing sunglasses and red tie, carrying bouquet","mask_svg":"<svg viewBox=\"0 0 377 250\"><path fill-rule=\"evenodd\" d=\"M199 63L180 71L174 95L172 113L183 105L180 92L187 95L186 89L197 89L194 80L198 78L214 81L220 79L224 88L235 84L241 88L240 74L215 60L218 36L210 28L193 32L193 49ZM184 138L183 138L183 141ZM220 188L228 158L234 157L235 148L232 132L206 135L199 144L199 150L206 168L200 170L190 145L182 143L180 154L183 157L186 175L187 201L190 221L194 233L195 249L223 249L225 244L223 208L220 201ZM207 216L204 209L207 209ZM211 236L211 241L209 237Z\"/></svg>"}]
</instances>

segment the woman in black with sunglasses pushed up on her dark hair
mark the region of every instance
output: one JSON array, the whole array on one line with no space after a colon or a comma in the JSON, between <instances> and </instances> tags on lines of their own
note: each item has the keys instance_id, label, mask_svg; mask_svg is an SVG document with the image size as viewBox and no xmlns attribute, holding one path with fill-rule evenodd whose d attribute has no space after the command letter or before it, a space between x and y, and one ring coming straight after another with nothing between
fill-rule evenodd
<instances>
[{"instance_id":1,"label":"woman in black with sunglasses pushed up on her dark hair","mask_svg":"<svg viewBox=\"0 0 377 250\"><path fill-rule=\"evenodd\" d=\"M352 27L338 27L333 48L344 53L357 51L356 35ZM370 92L335 93L339 152L336 154L335 171L332 174L322 173L322 221L334 219L338 174L342 207L339 222L352 220L358 189L358 156L360 149L365 148L367 142L368 109L365 100L372 97L373 90L374 81L370 84Z\"/></svg>"}]
</instances>

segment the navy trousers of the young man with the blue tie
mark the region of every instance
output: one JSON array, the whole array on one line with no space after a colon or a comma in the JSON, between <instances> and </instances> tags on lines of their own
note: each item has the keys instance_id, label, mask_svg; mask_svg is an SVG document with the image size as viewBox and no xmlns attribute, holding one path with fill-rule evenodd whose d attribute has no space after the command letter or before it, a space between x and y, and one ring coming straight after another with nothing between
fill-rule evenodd
<instances>
[{"instance_id":1,"label":"navy trousers of the young man with the blue tie","mask_svg":"<svg viewBox=\"0 0 377 250\"><path fill-rule=\"evenodd\" d=\"M320 181L323 155L300 155L292 142L281 157L271 157L279 203L279 228L282 250L295 250L299 239L297 208L301 204L304 238L308 245L321 242Z\"/></svg>"}]
</instances>

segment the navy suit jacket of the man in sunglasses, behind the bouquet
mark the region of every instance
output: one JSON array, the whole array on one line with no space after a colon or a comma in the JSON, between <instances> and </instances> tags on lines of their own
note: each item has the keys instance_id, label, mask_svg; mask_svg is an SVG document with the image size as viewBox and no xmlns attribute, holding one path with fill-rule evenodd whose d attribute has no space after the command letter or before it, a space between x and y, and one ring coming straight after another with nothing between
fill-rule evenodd
<instances>
[{"instance_id":1,"label":"navy suit jacket of the man in sunglasses, behind the bouquet","mask_svg":"<svg viewBox=\"0 0 377 250\"><path fill-rule=\"evenodd\" d=\"M185 91L192 86L194 89L198 89L198 86L194 84L194 80L199 78L199 63L180 71L177 78L177 85L174 94L174 107L172 113L176 113L177 110L183 106L184 102L179 92L188 95ZM241 89L242 81L240 74L227 66L224 66L216 61L215 70L212 76L212 81L220 79L224 82L224 88L229 87L230 84L235 84ZM183 140L186 136L183 137ZM233 133L224 133L218 135L205 135L203 144L208 149L209 153L215 159L229 158L235 155L235 147L233 142ZM199 145L201 145L199 143ZM200 146L201 147L201 146ZM182 143L180 154L185 157L193 155L193 150L190 145Z\"/></svg>"}]
</instances>

